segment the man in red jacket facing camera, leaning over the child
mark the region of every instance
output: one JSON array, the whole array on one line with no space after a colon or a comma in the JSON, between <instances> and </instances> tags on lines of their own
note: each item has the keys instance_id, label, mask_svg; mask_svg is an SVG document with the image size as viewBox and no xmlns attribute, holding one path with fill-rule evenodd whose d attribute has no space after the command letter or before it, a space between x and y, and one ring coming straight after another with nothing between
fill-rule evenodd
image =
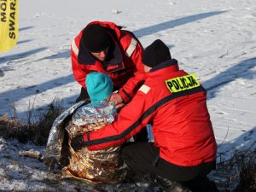
<instances>
[{"instance_id":1,"label":"man in red jacket facing camera, leaning over the child","mask_svg":"<svg viewBox=\"0 0 256 192\"><path fill-rule=\"evenodd\" d=\"M71 45L73 75L82 86L76 102L89 97L84 82L92 72L113 80L113 89L119 91L111 97L116 104L130 102L143 83L142 55L143 46L132 32L113 22L90 22Z\"/></svg>"}]
</instances>

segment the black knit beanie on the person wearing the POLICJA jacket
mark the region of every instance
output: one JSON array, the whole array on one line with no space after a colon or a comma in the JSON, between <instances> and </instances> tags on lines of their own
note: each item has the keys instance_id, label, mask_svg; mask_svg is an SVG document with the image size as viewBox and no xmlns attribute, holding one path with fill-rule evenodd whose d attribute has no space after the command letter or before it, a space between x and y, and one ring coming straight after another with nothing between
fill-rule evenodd
<instances>
[{"instance_id":1,"label":"black knit beanie on the person wearing the POLICJA jacket","mask_svg":"<svg viewBox=\"0 0 256 192\"><path fill-rule=\"evenodd\" d=\"M144 50L143 63L148 67L154 67L171 58L169 48L157 39Z\"/></svg>"}]
</instances>

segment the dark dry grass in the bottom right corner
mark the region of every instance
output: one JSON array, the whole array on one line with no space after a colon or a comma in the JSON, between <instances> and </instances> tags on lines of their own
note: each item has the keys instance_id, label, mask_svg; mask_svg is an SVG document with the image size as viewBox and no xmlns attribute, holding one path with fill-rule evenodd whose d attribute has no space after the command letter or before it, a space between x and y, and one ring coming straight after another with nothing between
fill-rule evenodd
<instances>
[{"instance_id":1,"label":"dark dry grass in the bottom right corner","mask_svg":"<svg viewBox=\"0 0 256 192\"><path fill-rule=\"evenodd\" d=\"M256 192L256 143L236 151L230 160L221 161L212 177L221 192Z\"/></svg>"}]
</instances>

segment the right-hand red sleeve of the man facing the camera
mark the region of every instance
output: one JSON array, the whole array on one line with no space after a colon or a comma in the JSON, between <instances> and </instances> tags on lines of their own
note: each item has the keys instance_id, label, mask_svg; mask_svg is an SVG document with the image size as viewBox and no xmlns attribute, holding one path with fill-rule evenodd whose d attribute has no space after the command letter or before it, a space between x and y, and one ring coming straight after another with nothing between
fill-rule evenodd
<instances>
[{"instance_id":1,"label":"right-hand red sleeve of the man facing the camera","mask_svg":"<svg viewBox=\"0 0 256 192\"><path fill-rule=\"evenodd\" d=\"M133 51L132 46L134 46ZM131 44L125 50L126 55L130 56L130 60L134 65L135 71L134 76L131 77L124 85L119 89L119 95L122 97L125 103L130 102L131 98L135 96L137 90L144 83L145 71L142 62L143 57L143 46L139 43L136 38L131 38Z\"/></svg>"}]
</instances>

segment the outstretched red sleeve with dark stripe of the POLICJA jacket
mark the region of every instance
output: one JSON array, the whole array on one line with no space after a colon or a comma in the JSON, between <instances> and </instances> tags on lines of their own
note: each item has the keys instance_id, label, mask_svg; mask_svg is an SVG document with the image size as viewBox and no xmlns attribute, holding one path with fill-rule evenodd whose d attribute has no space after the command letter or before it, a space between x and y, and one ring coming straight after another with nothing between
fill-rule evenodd
<instances>
[{"instance_id":1,"label":"outstretched red sleeve with dark stripe of the POLICJA jacket","mask_svg":"<svg viewBox=\"0 0 256 192\"><path fill-rule=\"evenodd\" d=\"M118 119L111 125L84 134L85 145L90 150L113 147L125 143L138 131L145 129L155 113L154 111L148 113L147 106L150 106L151 100L147 97L142 91L138 91L132 101L120 111Z\"/></svg>"}]
</instances>

